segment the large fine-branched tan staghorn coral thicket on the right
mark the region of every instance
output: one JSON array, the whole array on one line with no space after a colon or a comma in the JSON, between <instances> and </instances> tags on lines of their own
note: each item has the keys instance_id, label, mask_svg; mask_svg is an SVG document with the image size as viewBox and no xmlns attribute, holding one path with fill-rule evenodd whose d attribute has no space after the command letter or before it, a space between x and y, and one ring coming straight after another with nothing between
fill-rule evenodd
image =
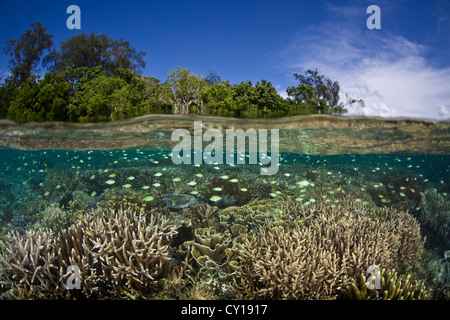
<instances>
[{"instance_id":1,"label":"large fine-branched tan staghorn coral thicket on the right","mask_svg":"<svg viewBox=\"0 0 450 320\"><path fill-rule=\"evenodd\" d=\"M267 228L248 240L239 255L236 296L330 299L370 265L392 268L420 256L423 242L415 241L420 233L418 224L411 223L414 218L392 213L381 221L363 209L352 202L333 209L318 203L307 209L311 218ZM407 245L410 241L416 247Z\"/></svg>"}]
</instances>

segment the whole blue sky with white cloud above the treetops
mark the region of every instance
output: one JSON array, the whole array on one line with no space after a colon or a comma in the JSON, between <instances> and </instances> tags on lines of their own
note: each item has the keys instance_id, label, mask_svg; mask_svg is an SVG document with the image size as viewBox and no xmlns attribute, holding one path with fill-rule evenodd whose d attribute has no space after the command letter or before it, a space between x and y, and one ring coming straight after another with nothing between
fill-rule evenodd
<instances>
[{"instance_id":1,"label":"whole blue sky with white cloud above the treetops","mask_svg":"<svg viewBox=\"0 0 450 320\"><path fill-rule=\"evenodd\" d=\"M73 4L80 30L66 26ZM380 29L367 27L370 5ZM450 120L450 0L0 0L0 47L38 21L57 48L83 32L124 38L146 53L142 74L162 81L178 66L213 70L230 83L266 79L286 97L294 73L317 68L342 102L364 100L349 115ZM3 79L8 64L1 51Z\"/></svg>"}]
</instances>

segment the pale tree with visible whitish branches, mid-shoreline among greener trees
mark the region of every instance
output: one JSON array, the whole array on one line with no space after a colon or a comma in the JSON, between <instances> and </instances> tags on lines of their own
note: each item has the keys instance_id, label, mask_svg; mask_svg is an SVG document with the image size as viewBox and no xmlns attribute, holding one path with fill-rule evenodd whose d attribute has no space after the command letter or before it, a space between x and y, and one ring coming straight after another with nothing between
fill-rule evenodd
<instances>
[{"instance_id":1,"label":"pale tree with visible whitish branches, mid-shoreline among greener trees","mask_svg":"<svg viewBox=\"0 0 450 320\"><path fill-rule=\"evenodd\" d=\"M206 80L200 74L193 74L189 69L178 67L167 75L165 82L167 99L173 105L175 114L188 114L189 107L197 107L197 113L205 114L206 108L202 99Z\"/></svg>"}]
</instances>

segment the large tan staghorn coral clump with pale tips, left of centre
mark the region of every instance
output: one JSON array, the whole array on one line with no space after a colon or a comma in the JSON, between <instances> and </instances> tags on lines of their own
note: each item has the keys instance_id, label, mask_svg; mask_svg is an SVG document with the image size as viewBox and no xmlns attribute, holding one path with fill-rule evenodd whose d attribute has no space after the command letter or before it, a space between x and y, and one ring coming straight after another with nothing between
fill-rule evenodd
<instances>
[{"instance_id":1,"label":"large tan staghorn coral clump with pale tips, left of centre","mask_svg":"<svg viewBox=\"0 0 450 320\"><path fill-rule=\"evenodd\" d=\"M104 210L82 220L96 277L110 284L111 292L146 295L169 273L168 246L176 231L167 219L152 215L148 221L141 213L122 209Z\"/></svg>"}]
</instances>

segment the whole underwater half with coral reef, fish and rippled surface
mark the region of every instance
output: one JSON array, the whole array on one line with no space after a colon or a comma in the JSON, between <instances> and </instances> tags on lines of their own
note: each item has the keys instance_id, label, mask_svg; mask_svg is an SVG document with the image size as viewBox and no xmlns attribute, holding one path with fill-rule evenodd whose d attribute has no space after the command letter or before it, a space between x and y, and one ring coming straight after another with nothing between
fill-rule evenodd
<instances>
[{"instance_id":1,"label":"whole underwater half with coral reef, fish and rippled surface","mask_svg":"<svg viewBox=\"0 0 450 320\"><path fill-rule=\"evenodd\" d=\"M2 120L0 172L2 299L450 298L448 122Z\"/></svg>"}]
</instances>

